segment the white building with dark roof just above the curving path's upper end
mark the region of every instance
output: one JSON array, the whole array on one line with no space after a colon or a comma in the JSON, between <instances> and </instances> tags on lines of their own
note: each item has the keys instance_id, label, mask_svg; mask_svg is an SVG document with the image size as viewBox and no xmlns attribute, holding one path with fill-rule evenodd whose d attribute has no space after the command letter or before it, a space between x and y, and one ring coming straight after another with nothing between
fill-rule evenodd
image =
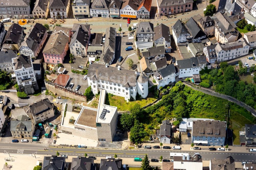
<instances>
[{"instance_id":1,"label":"white building with dark roof just above the curving path's upper end","mask_svg":"<svg viewBox=\"0 0 256 170\"><path fill-rule=\"evenodd\" d=\"M207 65L205 56L192 57L183 60L177 60L179 67L179 78L192 77L193 74L199 74L199 71Z\"/></svg>"}]
</instances>

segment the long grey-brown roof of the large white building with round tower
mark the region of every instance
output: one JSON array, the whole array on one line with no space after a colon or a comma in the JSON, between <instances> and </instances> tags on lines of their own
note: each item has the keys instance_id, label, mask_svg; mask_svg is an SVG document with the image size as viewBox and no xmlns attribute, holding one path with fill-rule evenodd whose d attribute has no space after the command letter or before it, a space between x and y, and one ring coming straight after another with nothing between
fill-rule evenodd
<instances>
[{"instance_id":1,"label":"long grey-brown roof of the large white building with round tower","mask_svg":"<svg viewBox=\"0 0 256 170\"><path fill-rule=\"evenodd\" d=\"M95 76L94 76L95 75ZM110 81L119 84L125 84L129 82L130 86L136 86L137 74L135 71L128 69L120 69L112 66L106 67L105 64L91 63L88 68L87 77L95 77L94 79L100 79Z\"/></svg>"}]
</instances>

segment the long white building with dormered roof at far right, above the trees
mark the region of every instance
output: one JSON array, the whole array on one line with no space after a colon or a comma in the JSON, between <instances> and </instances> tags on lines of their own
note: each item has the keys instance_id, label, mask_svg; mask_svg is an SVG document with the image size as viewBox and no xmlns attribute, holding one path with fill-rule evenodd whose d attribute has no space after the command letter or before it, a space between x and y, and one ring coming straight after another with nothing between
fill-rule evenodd
<instances>
[{"instance_id":1,"label":"long white building with dormered roof at far right, above the trees","mask_svg":"<svg viewBox=\"0 0 256 170\"><path fill-rule=\"evenodd\" d=\"M237 42L231 42L226 44L218 43L215 47L217 53L217 62L222 62L236 58L238 56L247 55L249 53L250 46L243 39L239 39Z\"/></svg>"}]
</instances>

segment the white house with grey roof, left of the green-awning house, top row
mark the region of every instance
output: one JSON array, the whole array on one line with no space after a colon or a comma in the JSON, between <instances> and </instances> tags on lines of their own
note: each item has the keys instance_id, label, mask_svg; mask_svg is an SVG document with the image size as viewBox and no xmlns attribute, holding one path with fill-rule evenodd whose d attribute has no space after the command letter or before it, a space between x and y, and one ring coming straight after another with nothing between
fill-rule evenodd
<instances>
[{"instance_id":1,"label":"white house with grey roof, left of the green-awning house, top row","mask_svg":"<svg viewBox=\"0 0 256 170\"><path fill-rule=\"evenodd\" d=\"M109 4L108 0L94 0L90 8L90 16L108 18Z\"/></svg>"}]
</instances>

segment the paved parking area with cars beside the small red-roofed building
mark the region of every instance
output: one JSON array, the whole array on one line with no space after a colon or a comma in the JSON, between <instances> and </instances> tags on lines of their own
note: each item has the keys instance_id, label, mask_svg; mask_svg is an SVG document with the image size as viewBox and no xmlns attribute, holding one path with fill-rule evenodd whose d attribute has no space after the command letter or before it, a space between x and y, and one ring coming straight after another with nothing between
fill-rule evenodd
<instances>
[{"instance_id":1,"label":"paved parking area with cars beside the small red-roofed building","mask_svg":"<svg viewBox=\"0 0 256 170\"><path fill-rule=\"evenodd\" d=\"M80 91L81 93L84 93L84 91L88 87L87 79L86 80L83 79L84 75L69 72L69 76L71 79L69 84L74 83L74 86L72 87L72 89L75 90L77 85L80 85L81 87L80 87L80 89L78 89L78 91Z\"/></svg>"}]
</instances>

